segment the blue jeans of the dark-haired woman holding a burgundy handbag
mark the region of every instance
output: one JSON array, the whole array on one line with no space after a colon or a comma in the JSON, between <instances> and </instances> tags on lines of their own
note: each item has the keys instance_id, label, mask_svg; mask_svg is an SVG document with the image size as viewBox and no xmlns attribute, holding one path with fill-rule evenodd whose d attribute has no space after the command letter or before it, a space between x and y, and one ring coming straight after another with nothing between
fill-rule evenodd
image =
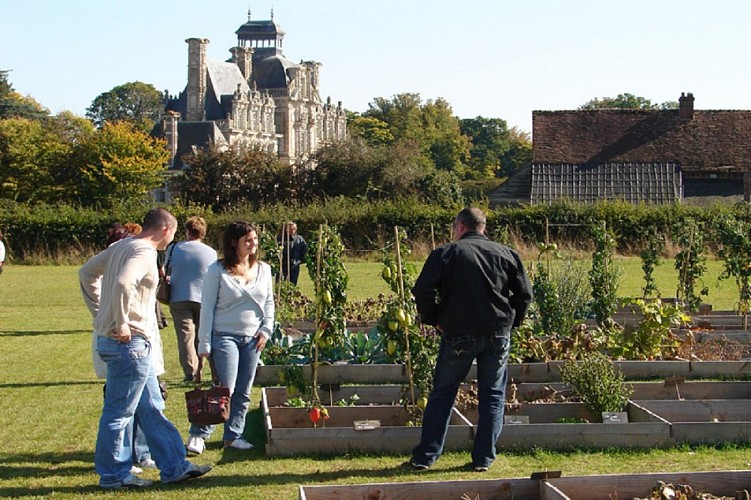
<instances>
[{"instance_id":1,"label":"blue jeans of the dark-haired woman holding a burgundy handbag","mask_svg":"<svg viewBox=\"0 0 751 500\"><path fill-rule=\"evenodd\" d=\"M215 333L211 336L211 359L219 382L229 387L229 419L224 423L224 440L234 441L245 430L245 414L250 406L250 389L261 357L256 352L256 338L247 335ZM207 439L213 425L190 426L190 435Z\"/></svg>"}]
</instances>

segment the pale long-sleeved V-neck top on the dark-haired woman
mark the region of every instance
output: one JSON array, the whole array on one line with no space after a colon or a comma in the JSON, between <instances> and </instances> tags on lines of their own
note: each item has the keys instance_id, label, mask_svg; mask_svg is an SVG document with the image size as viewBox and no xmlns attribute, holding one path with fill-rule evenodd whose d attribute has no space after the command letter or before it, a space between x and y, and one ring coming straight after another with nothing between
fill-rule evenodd
<instances>
[{"instance_id":1,"label":"pale long-sleeved V-neck top on the dark-haired woman","mask_svg":"<svg viewBox=\"0 0 751 500\"><path fill-rule=\"evenodd\" d=\"M274 331L274 285L271 267L258 262L254 281L242 284L220 262L206 271L201 294L198 354L211 353L213 333L255 336L267 339Z\"/></svg>"}]
</instances>

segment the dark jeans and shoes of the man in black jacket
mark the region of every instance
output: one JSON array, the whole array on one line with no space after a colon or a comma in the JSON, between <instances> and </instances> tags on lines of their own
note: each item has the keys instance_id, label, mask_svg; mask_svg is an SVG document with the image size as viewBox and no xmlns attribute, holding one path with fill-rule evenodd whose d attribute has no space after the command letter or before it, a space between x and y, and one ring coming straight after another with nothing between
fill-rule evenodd
<instances>
[{"instance_id":1,"label":"dark jeans and shoes of the man in black jacket","mask_svg":"<svg viewBox=\"0 0 751 500\"><path fill-rule=\"evenodd\" d=\"M444 336L438 351L433 390L422 418L420 444L412 450L416 464L433 465L443 453L459 385L477 360L479 420L472 446L472 464L489 467L495 460L495 443L503 427L506 400L506 371L510 331L491 336Z\"/></svg>"}]
</instances>

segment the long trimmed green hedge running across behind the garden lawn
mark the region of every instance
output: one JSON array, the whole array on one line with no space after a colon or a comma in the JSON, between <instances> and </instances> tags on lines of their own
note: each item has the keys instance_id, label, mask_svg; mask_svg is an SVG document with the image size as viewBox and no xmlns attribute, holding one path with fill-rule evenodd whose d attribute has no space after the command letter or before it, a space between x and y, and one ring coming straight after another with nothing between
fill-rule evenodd
<instances>
[{"instance_id":1,"label":"long trimmed green hedge running across behind the garden lawn","mask_svg":"<svg viewBox=\"0 0 751 500\"><path fill-rule=\"evenodd\" d=\"M86 256L103 248L107 227L112 222L140 222L148 208L123 206L102 212L64 205L28 206L6 202L0 204L0 229L5 233L9 258L15 262L32 257L54 260L60 255ZM256 212L237 210L214 214L196 207L169 208L181 222L194 214L205 217L209 225L207 242L215 247L227 223L245 219L274 232L279 231L285 220L294 220L306 237L319 224L330 224L339 228L348 249L375 250L393 238L394 226L405 228L413 240L430 241L432 224L436 241L446 241L459 207L411 200L367 202L337 198L305 207L277 205ZM591 239L591 224L605 221L615 231L621 251L638 249L652 231L669 234L672 227L689 219L707 225L720 216L751 221L751 208L746 204L696 207L560 203L486 211L488 233L495 239L514 235L527 242L542 241L547 230L551 241L586 245Z\"/></svg>"}]
</instances>

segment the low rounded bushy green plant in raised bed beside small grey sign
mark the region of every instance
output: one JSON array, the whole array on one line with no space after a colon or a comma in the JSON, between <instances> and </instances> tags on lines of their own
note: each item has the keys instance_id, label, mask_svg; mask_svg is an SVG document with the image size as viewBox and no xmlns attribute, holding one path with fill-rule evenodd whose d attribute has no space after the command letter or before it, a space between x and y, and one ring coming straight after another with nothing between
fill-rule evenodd
<instances>
[{"instance_id":1,"label":"low rounded bushy green plant in raised bed beside small grey sign","mask_svg":"<svg viewBox=\"0 0 751 500\"><path fill-rule=\"evenodd\" d=\"M623 383L623 373L616 373L612 361L595 352L581 361L566 361L561 380L579 396L591 411L622 411L633 390Z\"/></svg>"}]
</instances>

